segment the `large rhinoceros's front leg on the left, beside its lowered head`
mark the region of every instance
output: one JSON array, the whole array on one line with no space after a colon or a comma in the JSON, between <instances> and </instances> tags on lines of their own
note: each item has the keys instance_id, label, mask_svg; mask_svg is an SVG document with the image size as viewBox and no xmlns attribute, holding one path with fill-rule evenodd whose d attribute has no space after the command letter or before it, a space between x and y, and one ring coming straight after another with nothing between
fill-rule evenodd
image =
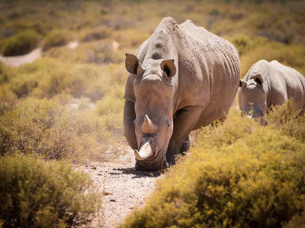
<instances>
[{"instance_id":1,"label":"large rhinoceros's front leg on the left, beside its lowered head","mask_svg":"<svg viewBox=\"0 0 305 228\"><path fill-rule=\"evenodd\" d=\"M138 149L134 120L136 119L135 104L129 100L124 106L124 129L125 137L132 149Z\"/></svg>"}]
</instances>

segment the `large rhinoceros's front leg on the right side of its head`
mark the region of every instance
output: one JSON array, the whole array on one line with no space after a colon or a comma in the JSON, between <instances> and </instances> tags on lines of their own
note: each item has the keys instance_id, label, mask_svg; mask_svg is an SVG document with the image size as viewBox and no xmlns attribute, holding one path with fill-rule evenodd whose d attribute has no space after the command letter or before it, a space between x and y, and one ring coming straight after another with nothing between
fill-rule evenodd
<instances>
[{"instance_id":1,"label":"large rhinoceros's front leg on the right side of its head","mask_svg":"<svg viewBox=\"0 0 305 228\"><path fill-rule=\"evenodd\" d=\"M199 120L201 106L187 106L178 110L174 120L173 134L166 151L166 160L170 165L175 164L175 156Z\"/></svg>"}]
</instances>

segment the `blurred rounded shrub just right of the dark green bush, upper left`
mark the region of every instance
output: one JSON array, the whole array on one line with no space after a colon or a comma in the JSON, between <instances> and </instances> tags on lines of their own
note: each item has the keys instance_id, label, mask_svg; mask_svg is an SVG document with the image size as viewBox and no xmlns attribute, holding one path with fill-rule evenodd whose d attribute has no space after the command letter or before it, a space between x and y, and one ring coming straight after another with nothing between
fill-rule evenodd
<instances>
[{"instance_id":1,"label":"blurred rounded shrub just right of the dark green bush, upper left","mask_svg":"<svg viewBox=\"0 0 305 228\"><path fill-rule=\"evenodd\" d=\"M63 30L50 31L42 41L42 49L45 51L52 47L64 46L68 44L71 39L71 32Z\"/></svg>"}]
</instances>

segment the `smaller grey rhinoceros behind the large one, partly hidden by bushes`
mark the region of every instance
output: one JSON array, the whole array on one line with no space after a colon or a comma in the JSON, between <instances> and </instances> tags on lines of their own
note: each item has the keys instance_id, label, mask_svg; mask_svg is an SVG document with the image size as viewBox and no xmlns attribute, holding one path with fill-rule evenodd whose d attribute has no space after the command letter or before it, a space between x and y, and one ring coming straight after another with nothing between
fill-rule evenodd
<instances>
[{"instance_id":1,"label":"smaller grey rhinoceros behind the large one, partly hidden by bushes","mask_svg":"<svg viewBox=\"0 0 305 228\"><path fill-rule=\"evenodd\" d=\"M305 78L276 60L255 63L239 82L238 103L241 115L265 125L265 115L272 105L293 99L295 111L305 113Z\"/></svg>"}]
</instances>

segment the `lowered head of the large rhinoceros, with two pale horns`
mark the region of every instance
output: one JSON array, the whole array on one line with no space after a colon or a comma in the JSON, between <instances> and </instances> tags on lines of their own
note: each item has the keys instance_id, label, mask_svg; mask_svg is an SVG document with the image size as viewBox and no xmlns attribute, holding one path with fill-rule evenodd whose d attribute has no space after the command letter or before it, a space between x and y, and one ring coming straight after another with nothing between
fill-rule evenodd
<instances>
[{"instance_id":1,"label":"lowered head of the large rhinoceros, with two pale horns","mask_svg":"<svg viewBox=\"0 0 305 228\"><path fill-rule=\"evenodd\" d=\"M125 63L136 75L136 169L162 170L168 167L166 150L173 132L174 60L151 60L144 68L136 56L126 54Z\"/></svg>"}]
</instances>

